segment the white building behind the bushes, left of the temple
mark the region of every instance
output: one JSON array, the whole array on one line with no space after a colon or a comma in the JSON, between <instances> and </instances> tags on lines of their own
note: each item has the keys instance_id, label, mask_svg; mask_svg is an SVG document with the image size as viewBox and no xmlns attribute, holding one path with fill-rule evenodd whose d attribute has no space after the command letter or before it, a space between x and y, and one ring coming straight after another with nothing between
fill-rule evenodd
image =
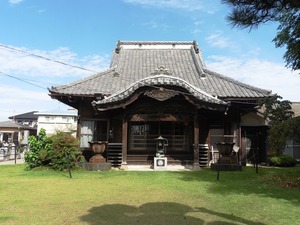
<instances>
[{"instance_id":1,"label":"white building behind the bushes, left of the temple","mask_svg":"<svg viewBox=\"0 0 300 225\"><path fill-rule=\"evenodd\" d=\"M38 116L37 132L43 128L47 135L55 134L57 131L70 132L76 135L77 111L36 112Z\"/></svg>"}]
</instances>

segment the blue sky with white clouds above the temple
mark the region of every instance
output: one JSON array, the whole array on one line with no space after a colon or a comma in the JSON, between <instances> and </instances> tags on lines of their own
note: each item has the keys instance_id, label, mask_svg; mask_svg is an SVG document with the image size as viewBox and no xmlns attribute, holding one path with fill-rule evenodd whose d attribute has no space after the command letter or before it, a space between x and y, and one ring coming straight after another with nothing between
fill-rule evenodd
<instances>
[{"instance_id":1,"label":"blue sky with white clouds above the temple","mask_svg":"<svg viewBox=\"0 0 300 225\"><path fill-rule=\"evenodd\" d=\"M196 40L209 69L299 102L277 24L240 30L228 12L220 0L0 0L0 121L67 108L47 88L106 69L118 40Z\"/></svg>"}]
</instances>

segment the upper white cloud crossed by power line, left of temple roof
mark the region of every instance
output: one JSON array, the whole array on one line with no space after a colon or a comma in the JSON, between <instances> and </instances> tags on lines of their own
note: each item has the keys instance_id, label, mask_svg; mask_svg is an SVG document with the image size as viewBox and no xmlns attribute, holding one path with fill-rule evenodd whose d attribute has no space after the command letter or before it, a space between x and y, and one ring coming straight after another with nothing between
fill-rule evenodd
<instances>
[{"instance_id":1,"label":"upper white cloud crossed by power line, left of temple roof","mask_svg":"<svg viewBox=\"0 0 300 225\"><path fill-rule=\"evenodd\" d=\"M14 51L13 49L17 49ZM28 54L22 54L21 52ZM33 55L41 56L34 57ZM47 60L49 59L49 60ZM57 63L59 61L62 63ZM54 77L74 79L99 72L108 67L108 56L88 55L79 57L68 48L57 48L52 51L30 50L9 46L0 46L0 71L10 75L39 78L47 80ZM73 67L75 66L75 67ZM90 71L76 67L86 68Z\"/></svg>"}]
</instances>

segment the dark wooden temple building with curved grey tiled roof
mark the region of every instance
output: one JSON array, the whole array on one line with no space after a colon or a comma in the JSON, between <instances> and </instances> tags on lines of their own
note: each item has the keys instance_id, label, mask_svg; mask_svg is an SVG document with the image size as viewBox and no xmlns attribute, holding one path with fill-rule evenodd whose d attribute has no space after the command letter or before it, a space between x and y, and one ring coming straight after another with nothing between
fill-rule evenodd
<instances>
[{"instance_id":1,"label":"dark wooden temple building with curved grey tiled roof","mask_svg":"<svg viewBox=\"0 0 300 225\"><path fill-rule=\"evenodd\" d=\"M223 141L240 148L244 163L266 161L257 105L271 91L207 69L195 41L119 41L108 70L49 91L78 110L81 148L108 141L108 161L119 150L124 167L151 164L159 136L173 164L206 166L208 149Z\"/></svg>"}]
</instances>

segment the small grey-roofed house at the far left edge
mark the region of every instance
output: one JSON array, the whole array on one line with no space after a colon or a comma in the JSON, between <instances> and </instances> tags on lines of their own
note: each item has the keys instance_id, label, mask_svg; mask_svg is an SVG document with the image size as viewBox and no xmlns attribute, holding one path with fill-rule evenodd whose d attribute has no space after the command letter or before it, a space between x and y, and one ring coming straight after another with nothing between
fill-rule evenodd
<instances>
[{"instance_id":1,"label":"small grey-roofed house at the far left edge","mask_svg":"<svg viewBox=\"0 0 300 225\"><path fill-rule=\"evenodd\" d=\"M27 145L29 135L36 135L36 128L15 121L0 122L0 142Z\"/></svg>"}]
</instances>

